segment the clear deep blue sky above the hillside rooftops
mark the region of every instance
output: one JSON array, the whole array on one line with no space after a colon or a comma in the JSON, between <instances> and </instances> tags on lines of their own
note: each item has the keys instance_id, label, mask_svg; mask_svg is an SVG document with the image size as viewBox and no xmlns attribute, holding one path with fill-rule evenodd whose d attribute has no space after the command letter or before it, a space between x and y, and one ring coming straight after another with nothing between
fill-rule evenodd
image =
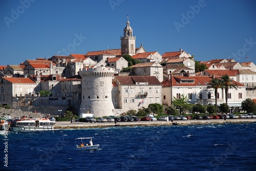
<instances>
[{"instance_id":1,"label":"clear deep blue sky above the hillside rooftops","mask_svg":"<svg viewBox=\"0 0 256 171\"><path fill-rule=\"evenodd\" d=\"M120 48L129 15L136 47L197 61L256 64L256 1L0 1L0 65Z\"/></svg>"}]
</instances>

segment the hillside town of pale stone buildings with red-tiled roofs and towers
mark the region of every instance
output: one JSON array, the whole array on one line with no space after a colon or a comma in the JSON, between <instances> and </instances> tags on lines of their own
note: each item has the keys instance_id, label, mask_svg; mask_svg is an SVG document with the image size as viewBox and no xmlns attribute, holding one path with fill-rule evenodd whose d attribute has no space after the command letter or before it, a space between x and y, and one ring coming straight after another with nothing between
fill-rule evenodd
<instances>
[{"instance_id":1,"label":"hillside town of pale stone buildings with red-tiled roofs and towers","mask_svg":"<svg viewBox=\"0 0 256 171\"><path fill-rule=\"evenodd\" d=\"M120 49L53 55L0 66L0 104L53 115L73 106L79 113L90 112L97 117L120 115L154 103L166 108L182 96L189 104L214 105L214 89L207 86L212 78L223 75L238 87L228 91L231 111L241 111L241 103L247 98L256 99L254 63L220 56L198 61L208 68L198 71L197 61L189 52L147 52L142 43L136 47L133 34L127 19ZM131 64L124 57L127 55L138 62ZM225 90L220 89L218 104L224 102Z\"/></svg>"}]
</instances>

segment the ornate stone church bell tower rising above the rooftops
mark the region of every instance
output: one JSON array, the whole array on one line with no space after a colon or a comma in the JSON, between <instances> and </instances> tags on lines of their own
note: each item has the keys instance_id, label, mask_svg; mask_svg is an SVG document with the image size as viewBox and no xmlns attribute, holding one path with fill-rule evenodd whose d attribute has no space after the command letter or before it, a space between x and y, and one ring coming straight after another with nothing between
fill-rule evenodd
<instances>
[{"instance_id":1,"label":"ornate stone church bell tower rising above the rooftops","mask_svg":"<svg viewBox=\"0 0 256 171\"><path fill-rule=\"evenodd\" d=\"M136 37L133 37L133 29L130 26L129 17L127 17L126 27L123 30L123 37L121 37L121 54L136 55L135 49Z\"/></svg>"}]
</instances>

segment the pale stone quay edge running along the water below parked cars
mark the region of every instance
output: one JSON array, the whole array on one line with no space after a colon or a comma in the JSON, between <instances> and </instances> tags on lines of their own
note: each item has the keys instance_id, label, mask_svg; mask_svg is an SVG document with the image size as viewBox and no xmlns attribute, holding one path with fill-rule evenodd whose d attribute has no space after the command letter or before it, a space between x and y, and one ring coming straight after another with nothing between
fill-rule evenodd
<instances>
[{"instance_id":1,"label":"pale stone quay edge running along the water below parked cars","mask_svg":"<svg viewBox=\"0 0 256 171\"><path fill-rule=\"evenodd\" d=\"M205 124L228 124L228 123L255 123L256 118L250 119L210 119L210 120L174 120L172 121L125 121L115 123L70 123L70 121L59 121L54 129L80 129L80 128L104 128L104 127L135 127L135 126L177 126L177 125L205 125Z\"/></svg>"}]
</instances>

